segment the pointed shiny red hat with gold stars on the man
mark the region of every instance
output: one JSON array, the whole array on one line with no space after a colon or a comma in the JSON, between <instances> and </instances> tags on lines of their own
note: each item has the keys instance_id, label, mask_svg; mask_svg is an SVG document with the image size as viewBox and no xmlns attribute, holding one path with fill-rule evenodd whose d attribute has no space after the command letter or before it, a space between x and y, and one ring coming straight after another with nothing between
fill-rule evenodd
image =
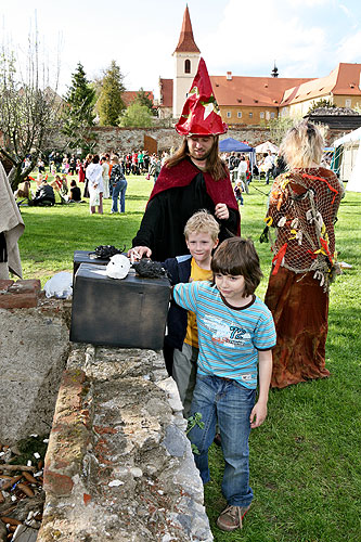
<instances>
[{"instance_id":1,"label":"pointed shiny red hat with gold stars on the man","mask_svg":"<svg viewBox=\"0 0 361 542\"><path fill-rule=\"evenodd\" d=\"M181 136L219 136L228 130L228 126L222 121L203 59L199 60L198 70L176 130Z\"/></svg>"}]
</instances>

